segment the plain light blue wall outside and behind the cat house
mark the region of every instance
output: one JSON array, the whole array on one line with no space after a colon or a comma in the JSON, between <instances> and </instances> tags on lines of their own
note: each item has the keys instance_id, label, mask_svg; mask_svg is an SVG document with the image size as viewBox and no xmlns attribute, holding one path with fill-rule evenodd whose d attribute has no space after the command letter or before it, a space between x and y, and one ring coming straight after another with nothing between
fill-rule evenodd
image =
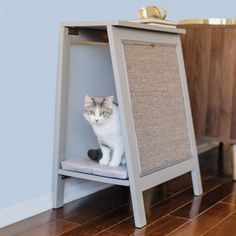
<instances>
[{"instance_id":1,"label":"plain light blue wall outside and behind the cat house","mask_svg":"<svg viewBox=\"0 0 236 236\"><path fill-rule=\"evenodd\" d=\"M145 5L170 20L236 17L234 2L0 0L0 209L51 192L60 21L131 19Z\"/></svg>"}]
</instances>

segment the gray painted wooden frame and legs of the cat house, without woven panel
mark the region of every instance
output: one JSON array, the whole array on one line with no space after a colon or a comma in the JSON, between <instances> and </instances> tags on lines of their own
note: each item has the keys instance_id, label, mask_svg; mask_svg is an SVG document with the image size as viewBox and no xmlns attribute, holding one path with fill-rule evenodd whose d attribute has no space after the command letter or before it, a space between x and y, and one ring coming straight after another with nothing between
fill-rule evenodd
<instances>
[{"instance_id":1,"label":"gray painted wooden frame and legs of the cat house, without woven panel","mask_svg":"<svg viewBox=\"0 0 236 236\"><path fill-rule=\"evenodd\" d=\"M96 34L81 36L69 35L68 27L80 27L84 30L105 30L108 34L108 44L110 47L113 74L119 110L121 115L121 126L125 140L125 155L127 160L128 180L118 180L106 177L98 177L88 174L76 173L62 170L60 162L66 157L66 123L67 123L67 105L68 105L68 78L69 78L69 54L72 42L77 44L95 43L99 45L100 39ZM83 31L82 30L82 31ZM85 30L86 31L86 30ZM191 172L193 189L195 195L202 194L201 177L199 171L196 142L192 124L192 115L190 110L188 89L186 84L186 75L183 63L183 55L179 34L183 30L168 29L167 27L148 26L138 23L124 21L103 22L103 23L63 23L60 33L59 62L58 62L58 87L57 87L57 105L56 105L56 127L55 127L55 148L54 148L54 184L53 184L53 207L63 206L64 183L63 176L94 180L98 182L112 183L117 185L129 186L131 190L132 205L134 211L135 226L138 228L146 224L146 215L143 202L143 191L166 182L172 178ZM176 55L179 65L180 83L186 112L186 122L189 132L189 141L191 146L192 158L173 164L166 168L156 170L155 172L141 175L140 154L135 132L130 90L128 83L128 74L125 62L125 53L122 41L138 40L148 43L171 44L176 47ZM102 40L101 45L104 45ZM107 42L105 42L107 43ZM171 143L170 143L171 145Z\"/></svg>"}]
</instances>

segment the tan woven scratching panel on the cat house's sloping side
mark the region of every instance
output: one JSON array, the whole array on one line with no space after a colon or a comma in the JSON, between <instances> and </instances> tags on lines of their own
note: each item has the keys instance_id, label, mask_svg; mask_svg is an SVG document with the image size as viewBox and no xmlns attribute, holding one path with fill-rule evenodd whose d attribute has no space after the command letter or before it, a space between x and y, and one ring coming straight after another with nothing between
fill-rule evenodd
<instances>
[{"instance_id":1,"label":"tan woven scratching panel on the cat house's sloping side","mask_svg":"<svg viewBox=\"0 0 236 236\"><path fill-rule=\"evenodd\" d=\"M176 46L123 41L141 175L192 157Z\"/></svg>"}]
</instances>

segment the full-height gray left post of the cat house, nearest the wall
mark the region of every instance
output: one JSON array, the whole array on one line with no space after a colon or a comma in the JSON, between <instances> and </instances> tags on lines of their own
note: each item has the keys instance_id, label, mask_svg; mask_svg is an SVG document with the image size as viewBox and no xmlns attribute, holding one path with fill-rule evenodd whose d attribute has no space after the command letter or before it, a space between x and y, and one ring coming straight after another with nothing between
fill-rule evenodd
<instances>
[{"instance_id":1,"label":"full-height gray left post of the cat house, nearest the wall","mask_svg":"<svg viewBox=\"0 0 236 236\"><path fill-rule=\"evenodd\" d=\"M61 161L66 159L66 122L69 77L69 52L71 37L67 28L61 26L59 34L58 81L55 109L54 169L53 169L53 208L64 204L64 180L58 174Z\"/></svg>"}]
</instances>

